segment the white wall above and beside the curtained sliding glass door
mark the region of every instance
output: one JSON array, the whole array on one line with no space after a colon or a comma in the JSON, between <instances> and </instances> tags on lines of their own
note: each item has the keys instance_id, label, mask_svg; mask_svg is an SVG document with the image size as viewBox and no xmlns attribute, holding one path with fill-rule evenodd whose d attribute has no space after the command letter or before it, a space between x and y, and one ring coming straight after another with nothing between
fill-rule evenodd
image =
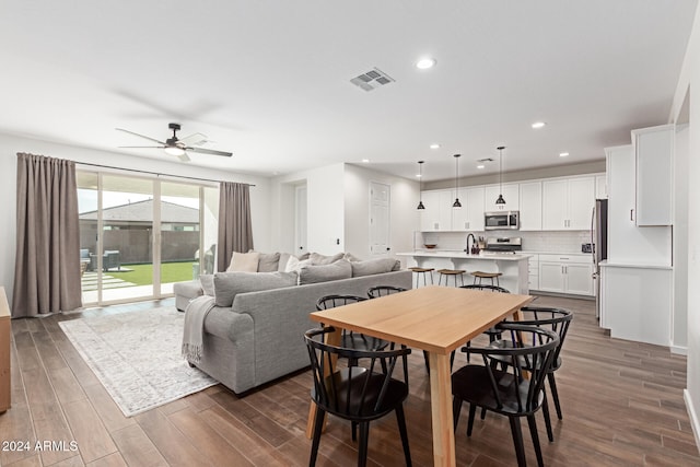
<instances>
[{"instance_id":1,"label":"white wall above and beside the curtained sliding glass door","mask_svg":"<svg viewBox=\"0 0 700 467\"><path fill-rule=\"evenodd\" d=\"M0 135L0 285L5 288L8 301L12 303L14 283L14 258L16 236L16 153L27 152L49 157L67 159L75 162L104 164L114 167L158 172L173 176L200 177L212 180L241 182L256 185L250 187L250 211L255 247L260 250L270 249L270 182L268 178L252 177L196 167L194 165L158 161L154 159L133 157L107 151L97 151L46 141ZM234 161L234 160L233 160Z\"/></svg>"}]
</instances>

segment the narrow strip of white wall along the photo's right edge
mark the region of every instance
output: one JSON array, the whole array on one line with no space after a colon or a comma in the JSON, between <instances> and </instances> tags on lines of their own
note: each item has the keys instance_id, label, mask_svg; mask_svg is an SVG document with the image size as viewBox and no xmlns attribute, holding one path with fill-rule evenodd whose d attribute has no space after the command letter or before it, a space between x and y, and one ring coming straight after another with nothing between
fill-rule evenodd
<instances>
[{"instance_id":1,"label":"narrow strip of white wall along the photo's right edge","mask_svg":"<svg viewBox=\"0 0 700 467\"><path fill-rule=\"evenodd\" d=\"M686 58L676 87L670 120L677 121L684 102L690 96L688 145L688 386L685 393L696 443L700 445L700 9L686 50Z\"/></svg>"}]
</instances>

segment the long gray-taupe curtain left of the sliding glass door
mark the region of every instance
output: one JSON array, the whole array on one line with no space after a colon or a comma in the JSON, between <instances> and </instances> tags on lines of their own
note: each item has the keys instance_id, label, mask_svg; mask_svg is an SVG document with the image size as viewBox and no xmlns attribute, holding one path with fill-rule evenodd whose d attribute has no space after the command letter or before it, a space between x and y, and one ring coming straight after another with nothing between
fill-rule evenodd
<instances>
[{"instance_id":1,"label":"long gray-taupe curtain left of the sliding glass door","mask_svg":"<svg viewBox=\"0 0 700 467\"><path fill-rule=\"evenodd\" d=\"M82 306L75 163L18 153L12 316Z\"/></svg>"}]
</instances>

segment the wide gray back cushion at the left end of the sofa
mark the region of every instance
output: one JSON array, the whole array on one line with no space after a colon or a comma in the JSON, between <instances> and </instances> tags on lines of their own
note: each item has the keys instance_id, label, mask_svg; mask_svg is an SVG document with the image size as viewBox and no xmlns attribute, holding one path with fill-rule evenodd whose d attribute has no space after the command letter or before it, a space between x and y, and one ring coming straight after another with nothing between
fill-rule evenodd
<instances>
[{"instance_id":1,"label":"wide gray back cushion at the left end of the sofa","mask_svg":"<svg viewBox=\"0 0 700 467\"><path fill-rule=\"evenodd\" d=\"M281 289L296 285L296 272L217 272L214 302L217 306L231 306L238 293Z\"/></svg>"}]
</instances>

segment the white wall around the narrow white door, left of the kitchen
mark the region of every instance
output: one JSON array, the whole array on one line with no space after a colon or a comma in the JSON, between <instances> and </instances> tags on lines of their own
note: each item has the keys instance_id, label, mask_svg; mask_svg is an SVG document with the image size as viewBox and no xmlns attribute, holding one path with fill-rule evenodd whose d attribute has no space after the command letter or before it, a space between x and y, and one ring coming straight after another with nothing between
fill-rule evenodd
<instances>
[{"instance_id":1,"label":"white wall around the narrow white door, left of the kitchen","mask_svg":"<svg viewBox=\"0 0 700 467\"><path fill-rule=\"evenodd\" d=\"M396 177L365 167L347 164L345 167L345 238L348 252L360 258L370 258L370 183L390 186L392 253L413 249L413 231L419 230L416 210L418 182Z\"/></svg>"}]
</instances>

